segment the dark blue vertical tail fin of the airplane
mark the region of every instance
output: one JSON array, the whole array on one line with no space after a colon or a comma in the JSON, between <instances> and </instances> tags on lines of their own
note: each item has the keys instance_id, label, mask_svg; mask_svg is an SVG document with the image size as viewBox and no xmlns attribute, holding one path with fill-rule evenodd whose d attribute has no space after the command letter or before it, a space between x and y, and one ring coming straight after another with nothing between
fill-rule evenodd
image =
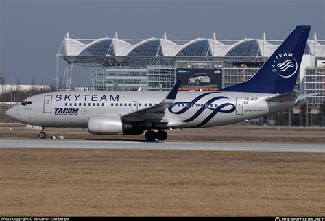
<instances>
[{"instance_id":1,"label":"dark blue vertical tail fin of the airplane","mask_svg":"<svg viewBox=\"0 0 325 221\"><path fill-rule=\"evenodd\" d=\"M296 26L250 80L220 91L280 94L292 92L310 30L311 26Z\"/></svg>"}]
</instances>

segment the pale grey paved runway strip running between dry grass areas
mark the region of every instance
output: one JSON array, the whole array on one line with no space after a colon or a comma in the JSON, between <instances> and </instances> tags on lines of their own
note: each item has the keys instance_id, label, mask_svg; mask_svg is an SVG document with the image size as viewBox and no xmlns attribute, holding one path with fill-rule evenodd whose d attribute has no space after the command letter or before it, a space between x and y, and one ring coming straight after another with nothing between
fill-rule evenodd
<instances>
[{"instance_id":1,"label":"pale grey paved runway strip running between dry grass areas","mask_svg":"<svg viewBox=\"0 0 325 221\"><path fill-rule=\"evenodd\" d=\"M324 143L211 143L85 140L1 140L0 148L79 148L119 150L222 150L325 153Z\"/></svg>"}]
</instances>

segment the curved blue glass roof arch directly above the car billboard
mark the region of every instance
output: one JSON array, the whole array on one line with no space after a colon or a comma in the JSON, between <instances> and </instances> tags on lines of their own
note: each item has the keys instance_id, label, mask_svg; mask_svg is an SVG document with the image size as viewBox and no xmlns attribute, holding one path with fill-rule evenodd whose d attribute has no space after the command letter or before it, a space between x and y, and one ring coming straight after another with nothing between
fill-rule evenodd
<instances>
[{"instance_id":1,"label":"curved blue glass roof arch directly above the car billboard","mask_svg":"<svg viewBox=\"0 0 325 221\"><path fill-rule=\"evenodd\" d=\"M197 40L181 49L176 56L205 57L212 56L208 40Z\"/></svg>"}]
</instances>

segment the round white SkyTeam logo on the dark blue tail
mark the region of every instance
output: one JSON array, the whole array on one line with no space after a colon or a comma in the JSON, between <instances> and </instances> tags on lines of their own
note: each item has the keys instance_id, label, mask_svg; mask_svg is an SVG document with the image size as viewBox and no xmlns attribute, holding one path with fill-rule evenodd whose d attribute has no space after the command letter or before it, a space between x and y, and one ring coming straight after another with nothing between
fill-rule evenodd
<instances>
[{"instance_id":1,"label":"round white SkyTeam logo on the dark blue tail","mask_svg":"<svg viewBox=\"0 0 325 221\"><path fill-rule=\"evenodd\" d=\"M272 72L282 78L292 77L298 70L298 62L291 53L280 53L274 57Z\"/></svg>"}]
</instances>

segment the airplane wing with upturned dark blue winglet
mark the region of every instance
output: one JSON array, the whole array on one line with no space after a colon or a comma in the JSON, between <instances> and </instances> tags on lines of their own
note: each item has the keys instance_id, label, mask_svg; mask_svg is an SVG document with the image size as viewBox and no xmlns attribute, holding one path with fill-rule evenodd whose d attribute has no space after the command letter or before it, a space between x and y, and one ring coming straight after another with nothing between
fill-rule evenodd
<instances>
[{"instance_id":1,"label":"airplane wing with upturned dark blue winglet","mask_svg":"<svg viewBox=\"0 0 325 221\"><path fill-rule=\"evenodd\" d=\"M167 121L167 119L164 120L165 110L173 104L176 95L178 93L178 88L180 87L180 80L174 84L171 91L169 91L168 95L165 97L165 99L154 105L149 106L147 108L143 108L141 110L132 111L130 113L126 113L124 115L121 115L121 118L123 119L129 119L131 121L141 121L144 119L149 119L152 121Z\"/></svg>"}]
</instances>

